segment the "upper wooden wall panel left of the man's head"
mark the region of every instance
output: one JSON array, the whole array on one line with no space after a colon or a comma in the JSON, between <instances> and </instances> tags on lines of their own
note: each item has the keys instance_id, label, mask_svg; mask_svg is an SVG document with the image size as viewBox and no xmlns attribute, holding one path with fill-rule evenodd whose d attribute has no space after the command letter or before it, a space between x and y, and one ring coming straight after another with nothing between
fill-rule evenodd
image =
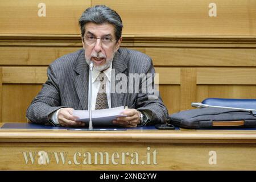
<instances>
[{"instance_id":1,"label":"upper wooden wall panel left of the man's head","mask_svg":"<svg viewBox=\"0 0 256 182\"><path fill-rule=\"evenodd\" d=\"M46 16L39 17L39 3ZM78 20L90 0L1 0L0 34L80 34Z\"/></svg>"}]
</instances>

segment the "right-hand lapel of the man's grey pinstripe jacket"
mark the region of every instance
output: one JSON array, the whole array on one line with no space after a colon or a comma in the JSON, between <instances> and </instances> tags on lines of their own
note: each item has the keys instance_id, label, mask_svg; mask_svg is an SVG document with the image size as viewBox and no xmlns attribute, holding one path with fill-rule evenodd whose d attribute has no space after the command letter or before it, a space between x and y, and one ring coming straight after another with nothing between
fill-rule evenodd
<instances>
[{"instance_id":1,"label":"right-hand lapel of the man's grey pinstripe jacket","mask_svg":"<svg viewBox=\"0 0 256 182\"><path fill-rule=\"evenodd\" d=\"M117 85L118 82L120 81L120 80L115 80L115 77L119 73L123 73L127 76L127 63L125 62L125 58L117 51L115 53L113 63L112 63L111 80L112 80L112 82L113 81L115 82L114 85L112 84L113 86ZM128 85L128 77L127 77L127 85ZM127 90L127 92L128 92L128 90ZM116 92L111 93L111 107L125 106L126 100L127 100L126 97L127 97L126 93L116 93Z\"/></svg>"}]
</instances>

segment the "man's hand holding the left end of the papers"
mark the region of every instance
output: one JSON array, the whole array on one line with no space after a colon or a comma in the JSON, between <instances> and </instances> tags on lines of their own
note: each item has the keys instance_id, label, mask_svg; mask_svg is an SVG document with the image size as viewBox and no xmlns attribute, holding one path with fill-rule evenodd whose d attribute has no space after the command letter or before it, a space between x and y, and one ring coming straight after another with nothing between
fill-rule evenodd
<instances>
[{"instance_id":1,"label":"man's hand holding the left end of the papers","mask_svg":"<svg viewBox=\"0 0 256 182\"><path fill-rule=\"evenodd\" d=\"M75 119L78 119L77 117L73 116L72 108L61 108L59 110L59 113L57 115L58 121L61 126L74 126L74 127L79 127L79 126L85 126L84 122L81 121L75 121Z\"/></svg>"}]
</instances>

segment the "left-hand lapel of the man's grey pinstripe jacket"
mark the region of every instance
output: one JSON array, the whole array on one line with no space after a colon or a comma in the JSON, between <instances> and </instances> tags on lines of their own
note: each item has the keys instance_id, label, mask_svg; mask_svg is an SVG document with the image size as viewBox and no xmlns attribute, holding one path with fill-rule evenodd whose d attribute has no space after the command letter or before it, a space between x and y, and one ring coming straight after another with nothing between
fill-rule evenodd
<instances>
[{"instance_id":1,"label":"left-hand lapel of the man's grey pinstripe jacket","mask_svg":"<svg viewBox=\"0 0 256 182\"><path fill-rule=\"evenodd\" d=\"M84 51L81 52L77 59L74 71L77 73L73 77L76 93L79 97L82 110L88 110L88 76L89 65L85 61Z\"/></svg>"}]
</instances>

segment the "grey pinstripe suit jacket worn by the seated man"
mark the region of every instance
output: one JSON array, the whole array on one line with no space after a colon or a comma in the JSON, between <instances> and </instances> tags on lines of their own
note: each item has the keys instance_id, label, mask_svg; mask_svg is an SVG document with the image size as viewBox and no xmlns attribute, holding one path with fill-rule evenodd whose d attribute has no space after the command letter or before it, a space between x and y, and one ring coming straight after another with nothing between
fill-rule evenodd
<instances>
[{"instance_id":1,"label":"grey pinstripe suit jacket worn by the seated man","mask_svg":"<svg viewBox=\"0 0 256 182\"><path fill-rule=\"evenodd\" d=\"M123 73L127 80L129 73L155 73L150 57L125 48L119 48L115 53L112 68L115 69L115 76ZM88 73L84 49L55 60L47 69L48 80L27 109L27 119L35 123L53 124L48 116L61 107L88 110ZM115 81L115 85L119 81ZM168 115L160 96L156 100L148 100L148 94L141 92L111 93L111 106L150 110L150 123L163 123Z\"/></svg>"}]
</instances>

